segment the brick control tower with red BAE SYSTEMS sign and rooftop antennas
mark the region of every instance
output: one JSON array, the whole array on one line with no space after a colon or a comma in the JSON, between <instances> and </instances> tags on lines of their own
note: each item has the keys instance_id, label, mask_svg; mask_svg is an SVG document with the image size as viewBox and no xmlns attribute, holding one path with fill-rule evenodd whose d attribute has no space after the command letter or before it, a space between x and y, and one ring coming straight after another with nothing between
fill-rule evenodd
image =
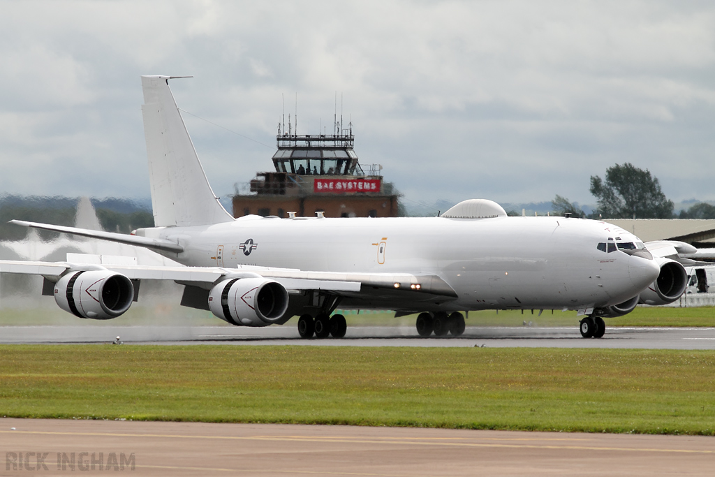
<instances>
[{"instance_id":1,"label":"brick control tower with red BAE SYSTEMS sign and rooftop antennas","mask_svg":"<svg viewBox=\"0 0 715 477\"><path fill-rule=\"evenodd\" d=\"M290 123L290 121L289 121ZM382 166L363 169L352 124L336 134L292 134L278 127L275 171L257 172L233 197L233 215L287 217L397 217L398 192L384 182Z\"/></svg>"}]
</instances>

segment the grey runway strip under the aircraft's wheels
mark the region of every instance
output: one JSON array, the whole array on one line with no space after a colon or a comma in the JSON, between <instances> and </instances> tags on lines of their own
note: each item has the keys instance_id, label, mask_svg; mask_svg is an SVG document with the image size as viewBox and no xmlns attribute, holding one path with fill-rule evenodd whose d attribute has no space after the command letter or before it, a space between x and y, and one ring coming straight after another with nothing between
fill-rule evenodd
<instances>
[{"instance_id":1,"label":"grey runway strip under the aircraft's wheels","mask_svg":"<svg viewBox=\"0 0 715 477\"><path fill-rule=\"evenodd\" d=\"M644 348L714 350L715 328L607 328L601 339L583 339L576 326L558 328L468 327L459 338L421 338L413 327L350 327L340 340L302 340L295 326L3 326L0 343L320 346L487 346L493 348Z\"/></svg>"}]
</instances>

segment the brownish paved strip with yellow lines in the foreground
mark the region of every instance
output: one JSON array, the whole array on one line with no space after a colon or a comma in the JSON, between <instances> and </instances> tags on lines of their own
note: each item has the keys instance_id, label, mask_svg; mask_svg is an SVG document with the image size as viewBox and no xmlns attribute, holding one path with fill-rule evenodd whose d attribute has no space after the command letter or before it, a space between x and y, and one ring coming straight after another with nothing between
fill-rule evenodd
<instances>
[{"instance_id":1,"label":"brownish paved strip with yellow lines in the foreground","mask_svg":"<svg viewBox=\"0 0 715 477\"><path fill-rule=\"evenodd\" d=\"M107 470L142 476L706 476L715 466L714 442L704 436L0 419L8 476L32 470L43 476Z\"/></svg>"}]
</instances>

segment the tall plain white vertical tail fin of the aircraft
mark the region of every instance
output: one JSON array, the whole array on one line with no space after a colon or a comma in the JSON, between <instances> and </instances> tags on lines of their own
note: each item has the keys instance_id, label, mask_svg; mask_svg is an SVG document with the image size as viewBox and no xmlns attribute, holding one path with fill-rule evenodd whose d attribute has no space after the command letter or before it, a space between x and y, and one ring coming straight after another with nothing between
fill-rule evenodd
<instances>
[{"instance_id":1,"label":"tall plain white vertical tail fin of the aircraft","mask_svg":"<svg viewBox=\"0 0 715 477\"><path fill-rule=\"evenodd\" d=\"M232 222L206 178L174 96L172 77L142 77L144 135L149 158L154 225Z\"/></svg>"}]
</instances>

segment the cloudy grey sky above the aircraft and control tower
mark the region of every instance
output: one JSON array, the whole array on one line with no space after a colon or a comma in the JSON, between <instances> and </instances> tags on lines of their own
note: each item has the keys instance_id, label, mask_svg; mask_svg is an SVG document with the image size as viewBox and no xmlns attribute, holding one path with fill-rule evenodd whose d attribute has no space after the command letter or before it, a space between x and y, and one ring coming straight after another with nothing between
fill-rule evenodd
<instances>
[{"instance_id":1,"label":"cloudy grey sky above the aircraft and control tower","mask_svg":"<svg viewBox=\"0 0 715 477\"><path fill-rule=\"evenodd\" d=\"M171 86L217 195L272 168L283 97L317 134L337 92L361 162L411 201L593 204L623 162L715 200L712 2L0 7L0 194L149 197L139 76L167 74L194 76Z\"/></svg>"}]
</instances>

